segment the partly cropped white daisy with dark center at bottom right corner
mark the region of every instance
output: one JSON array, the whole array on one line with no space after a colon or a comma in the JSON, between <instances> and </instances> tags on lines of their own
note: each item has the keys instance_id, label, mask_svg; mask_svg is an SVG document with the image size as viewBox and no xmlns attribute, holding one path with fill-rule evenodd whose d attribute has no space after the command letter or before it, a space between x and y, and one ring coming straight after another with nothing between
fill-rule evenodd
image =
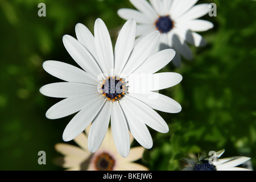
<instances>
[{"instance_id":1,"label":"partly cropped white daisy with dark center at bottom right corner","mask_svg":"<svg viewBox=\"0 0 256 182\"><path fill-rule=\"evenodd\" d=\"M230 158L219 159L225 150L216 152L216 159L212 161L210 158L184 159L190 167L186 167L183 171L251 171L250 169L236 167L245 163L250 158L243 156L234 156ZM209 161L210 160L210 161Z\"/></svg>"}]
</instances>

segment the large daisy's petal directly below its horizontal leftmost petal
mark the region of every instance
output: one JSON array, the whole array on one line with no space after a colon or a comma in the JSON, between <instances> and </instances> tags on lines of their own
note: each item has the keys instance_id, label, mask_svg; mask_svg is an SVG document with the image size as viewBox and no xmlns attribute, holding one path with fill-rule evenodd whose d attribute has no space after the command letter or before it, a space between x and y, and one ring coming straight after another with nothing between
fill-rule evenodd
<instances>
[{"instance_id":1,"label":"large daisy's petal directly below its horizontal leftmost petal","mask_svg":"<svg viewBox=\"0 0 256 182\"><path fill-rule=\"evenodd\" d=\"M92 100L94 97L96 96L89 95L83 97L65 98L64 100L51 106L46 112L46 117L48 119L58 119L74 114L80 111L82 108L88 107L88 101Z\"/></svg>"}]
</instances>

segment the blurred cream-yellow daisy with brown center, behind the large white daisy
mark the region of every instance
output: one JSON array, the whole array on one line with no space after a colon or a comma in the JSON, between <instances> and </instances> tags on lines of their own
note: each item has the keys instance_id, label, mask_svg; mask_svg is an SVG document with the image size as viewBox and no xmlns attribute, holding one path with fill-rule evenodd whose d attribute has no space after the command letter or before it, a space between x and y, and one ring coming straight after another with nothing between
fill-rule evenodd
<instances>
[{"instance_id":1,"label":"blurred cream-yellow daisy with brown center, behind the large white daisy","mask_svg":"<svg viewBox=\"0 0 256 182\"><path fill-rule=\"evenodd\" d=\"M82 132L74 141L79 145L57 143L56 151L64 156L55 159L55 163L70 171L147 171L148 168L141 164L134 163L142 158L144 148L131 148L130 155L127 158L122 158L117 150L110 129L106 132L106 137L102 142L101 147L93 154L87 149L89 127L85 133ZM130 135L130 142L133 142L133 137Z\"/></svg>"}]
</instances>

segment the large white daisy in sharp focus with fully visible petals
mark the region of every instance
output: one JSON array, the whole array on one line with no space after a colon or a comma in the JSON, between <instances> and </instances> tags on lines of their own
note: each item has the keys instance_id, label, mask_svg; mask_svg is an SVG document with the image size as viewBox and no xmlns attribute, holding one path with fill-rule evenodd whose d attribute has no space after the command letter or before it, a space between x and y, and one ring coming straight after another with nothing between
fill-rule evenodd
<instances>
[{"instance_id":1,"label":"large white daisy in sharp focus with fully visible petals","mask_svg":"<svg viewBox=\"0 0 256 182\"><path fill-rule=\"evenodd\" d=\"M145 36L134 47L136 22L128 20L112 48L108 29L101 19L94 25L94 36L82 24L76 25L77 39L63 36L69 54L82 69L60 61L45 61L43 68L67 82L40 88L48 97L65 98L49 108L46 117L63 118L77 113L65 127L63 140L77 137L92 122L88 149L95 152L101 145L111 119L114 142L120 155L130 151L129 130L144 148L152 147L147 126L168 132L168 125L154 110L179 113L181 106L172 98L154 92L178 84L178 73L155 73L170 63L173 49L151 55L159 42L159 31ZM146 126L147 125L147 126Z\"/></svg>"}]
</instances>

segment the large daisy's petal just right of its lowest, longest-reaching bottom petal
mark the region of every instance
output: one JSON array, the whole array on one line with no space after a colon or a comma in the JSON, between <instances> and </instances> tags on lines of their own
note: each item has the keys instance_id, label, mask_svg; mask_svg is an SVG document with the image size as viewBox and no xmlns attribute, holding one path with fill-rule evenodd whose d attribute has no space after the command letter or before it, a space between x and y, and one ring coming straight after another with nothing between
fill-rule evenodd
<instances>
[{"instance_id":1,"label":"large daisy's petal just right of its lowest, longest-reaching bottom petal","mask_svg":"<svg viewBox=\"0 0 256 182\"><path fill-rule=\"evenodd\" d=\"M147 126L141 121L141 118L138 118L137 115L134 115L133 107L127 105L127 102L120 102L125 117L128 122L128 127L139 144L144 148L151 148L153 141L150 135L150 132L147 129Z\"/></svg>"}]
</instances>

